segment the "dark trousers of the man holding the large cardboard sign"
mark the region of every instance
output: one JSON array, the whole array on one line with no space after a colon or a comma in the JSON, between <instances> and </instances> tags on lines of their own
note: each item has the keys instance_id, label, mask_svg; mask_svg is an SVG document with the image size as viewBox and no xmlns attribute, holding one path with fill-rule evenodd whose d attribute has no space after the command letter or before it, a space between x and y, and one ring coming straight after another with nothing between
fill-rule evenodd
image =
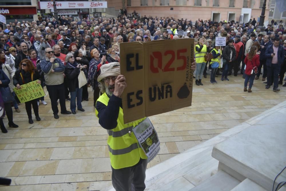
<instances>
[{"instance_id":1,"label":"dark trousers of the man holding the large cardboard sign","mask_svg":"<svg viewBox=\"0 0 286 191\"><path fill-rule=\"evenodd\" d=\"M122 169L112 168L112 185L116 191L143 191L145 189L145 172L147 160L142 164Z\"/></svg>"}]
</instances>

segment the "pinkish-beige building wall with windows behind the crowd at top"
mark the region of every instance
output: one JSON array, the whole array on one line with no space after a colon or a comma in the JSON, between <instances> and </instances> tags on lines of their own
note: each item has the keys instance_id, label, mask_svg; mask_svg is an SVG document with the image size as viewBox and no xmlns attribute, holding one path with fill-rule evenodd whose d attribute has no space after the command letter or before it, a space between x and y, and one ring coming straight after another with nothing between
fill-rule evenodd
<instances>
[{"instance_id":1,"label":"pinkish-beige building wall with windows behind the crowd at top","mask_svg":"<svg viewBox=\"0 0 286 191\"><path fill-rule=\"evenodd\" d=\"M107 0L108 7L115 7L116 10L121 9L122 0ZM127 4L127 0L125 0ZM158 17L174 17L174 18L184 18L184 19L192 19L192 21L200 19L210 19L212 18L212 11L219 11L221 13L221 20L227 20L229 12L235 12L235 21L239 21L239 17L241 14L241 8L243 7L243 1L236 0L235 7L229 7L229 0L220 0L220 7L212 7L213 1L202 0L202 6L194 6L195 0L187 0L187 5L185 6L177 6L176 0L170 0L169 6L160 6L160 0L148 0L148 6L141 6L141 0L131 0L130 7L127 7L127 13L132 13L136 10L137 13L141 15L151 15ZM261 15L262 9L259 9L260 0L256 0L253 5L251 18L255 18ZM154 3L154 5L153 5ZM170 7L173 7L174 10L170 10ZM269 9L265 11L265 21L268 20Z\"/></svg>"}]
</instances>

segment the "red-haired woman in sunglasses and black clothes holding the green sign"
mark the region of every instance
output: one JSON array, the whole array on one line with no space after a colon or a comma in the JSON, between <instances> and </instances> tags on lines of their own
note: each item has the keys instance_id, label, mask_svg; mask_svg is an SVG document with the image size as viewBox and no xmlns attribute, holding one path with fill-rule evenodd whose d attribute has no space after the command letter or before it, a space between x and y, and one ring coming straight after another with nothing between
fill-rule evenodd
<instances>
[{"instance_id":1,"label":"red-haired woman in sunglasses and black clothes holding the green sign","mask_svg":"<svg viewBox=\"0 0 286 191\"><path fill-rule=\"evenodd\" d=\"M21 85L27 84L29 82L38 80L37 83L41 84L41 75L39 72L35 69L34 64L31 62L31 60L23 59L21 63L19 64L19 69L16 70L15 75L13 76L13 84L16 86L17 89L21 89ZM36 116L37 121L41 121L41 118L39 117L39 107L37 104L37 99L33 99L31 101L25 102L26 111L29 118L29 123L32 124L32 107Z\"/></svg>"}]
</instances>

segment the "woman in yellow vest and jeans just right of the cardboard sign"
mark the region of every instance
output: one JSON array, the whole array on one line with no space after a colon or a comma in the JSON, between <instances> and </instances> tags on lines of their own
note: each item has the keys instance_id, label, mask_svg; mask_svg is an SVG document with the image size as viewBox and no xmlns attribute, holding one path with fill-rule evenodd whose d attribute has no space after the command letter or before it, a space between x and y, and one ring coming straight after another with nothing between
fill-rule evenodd
<instances>
[{"instance_id":1,"label":"woman in yellow vest and jeans just right of the cardboard sign","mask_svg":"<svg viewBox=\"0 0 286 191\"><path fill-rule=\"evenodd\" d=\"M204 72L204 67L206 66L206 61L204 56L206 55L206 45L204 44L204 38L198 38L198 44L195 46L195 57L196 57L196 85L202 84L202 74Z\"/></svg>"}]
</instances>

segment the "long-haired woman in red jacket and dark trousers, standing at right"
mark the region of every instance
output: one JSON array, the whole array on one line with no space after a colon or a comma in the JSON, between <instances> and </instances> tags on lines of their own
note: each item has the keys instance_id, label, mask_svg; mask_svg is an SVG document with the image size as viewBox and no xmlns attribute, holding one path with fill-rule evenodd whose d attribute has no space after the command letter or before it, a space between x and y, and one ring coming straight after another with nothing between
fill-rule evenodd
<instances>
[{"instance_id":1,"label":"long-haired woman in red jacket and dark trousers, standing at right","mask_svg":"<svg viewBox=\"0 0 286 191\"><path fill-rule=\"evenodd\" d=\"M248 92L252 92L251 88L253 85L253 80L255 78L255 72L257 72L257 67L259 66L259 57L260 57L260 51L257 52L257 46L252 46L250 48L249 53L246 55L244 59L244 63L246 64L246 69L245 69L245 81L244 81L244 90L247 91L247 83L249 81L249 88ZM253 72L252 72L253 70Z\"/></svg>"}]
</instances>

